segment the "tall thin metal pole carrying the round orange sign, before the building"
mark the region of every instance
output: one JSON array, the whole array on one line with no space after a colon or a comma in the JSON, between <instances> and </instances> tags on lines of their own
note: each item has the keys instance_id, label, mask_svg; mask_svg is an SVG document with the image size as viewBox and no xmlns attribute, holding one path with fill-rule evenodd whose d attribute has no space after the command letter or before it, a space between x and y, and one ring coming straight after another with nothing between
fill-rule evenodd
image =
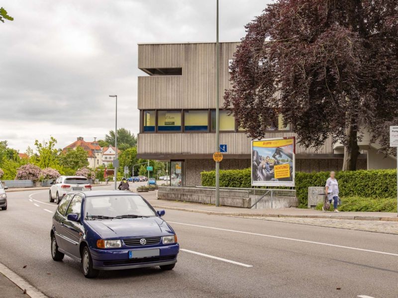
<instances>
[{"instance_id":1,"label":"tall thin metal pole carrying the round orange sign, before the building","mask_svg":"<svg viewBox=\"0 0 398 298\"><path fill-rule=\"evenodd\" d=\"M220 45L218 42L218 0L217 0L217 25L216 25L216 99L215 99L215 152L220 150ZM215 162L215 206L220 206L220 163Z\"/></svg>"}]
</instances>

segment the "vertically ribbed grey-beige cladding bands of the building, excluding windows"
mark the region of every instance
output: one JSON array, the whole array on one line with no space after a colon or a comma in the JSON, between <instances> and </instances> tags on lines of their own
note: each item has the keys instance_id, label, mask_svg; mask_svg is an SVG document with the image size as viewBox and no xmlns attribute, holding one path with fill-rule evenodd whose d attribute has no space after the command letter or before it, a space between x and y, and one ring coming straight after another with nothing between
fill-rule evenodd
<instances>
[{"instance_id":1,"label":"vertically ribbed grey-beige cladding bands of the building, excluding windows","mask_svg":"<svg viewBox=\"0 0 398 298\"><path fill-rule=\"evenodd\" d=\"M224 104L224 90L231 87L228 60L233 59L238 45L239 42L220 43L220 107ZM182 75L139 76L138 109L215 108L215 51L215 43L139 44L138 68L182 68ZM265 138L294 135L269 132ZM214 152L214 144L214 133L141 133L138 154L153 158L160 155L204 156ZM228 145L228 154L250 158L250 139L244 133L220 133L220 144ZM333 154L332 140L327 140L318 151L298 146L296 153Z\"/></svg>"}]
</instances>

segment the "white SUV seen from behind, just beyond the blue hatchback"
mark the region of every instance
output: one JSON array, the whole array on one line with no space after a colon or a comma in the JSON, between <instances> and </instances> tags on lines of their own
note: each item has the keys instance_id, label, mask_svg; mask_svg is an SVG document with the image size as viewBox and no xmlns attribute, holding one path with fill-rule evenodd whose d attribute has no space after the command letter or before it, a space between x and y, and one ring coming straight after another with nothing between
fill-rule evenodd
<instances>
[{"instance_id":1,"label":"white SUV seen from behind, just beyond the blue hatchback","mask_svg":"<svg viewBox=\"0 0 398 298\"><path fill-rule=\"evenodd\" d=\"M60 176L51 182L49 199L50 202L59 204L68 191L91 190L89 179L84 176Z\"/></svg>"}]
</instances>

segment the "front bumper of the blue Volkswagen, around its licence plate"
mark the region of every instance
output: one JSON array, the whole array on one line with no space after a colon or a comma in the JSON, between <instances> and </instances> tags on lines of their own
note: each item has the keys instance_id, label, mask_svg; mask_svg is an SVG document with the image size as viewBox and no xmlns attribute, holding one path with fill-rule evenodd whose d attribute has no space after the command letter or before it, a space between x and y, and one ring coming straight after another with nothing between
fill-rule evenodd
<instances>
[{"instance_id":1,"label":"front bumper of the blue Volkswagen, around its licence plate","mask_svg":"<svg viewBox=\"0 0 398 298\"><path fill-rule=\"evenodd\" d=\"M96 249L91 248L93 268L99 270L120 270L143 267L163 266L177 263L177 254L180 246L178 243L162 246L151 246L145 249L159 248L159 256L145 258L129 258L129 251L141 250L143 248L131 249Z\"/></svg>"}]
</instances>

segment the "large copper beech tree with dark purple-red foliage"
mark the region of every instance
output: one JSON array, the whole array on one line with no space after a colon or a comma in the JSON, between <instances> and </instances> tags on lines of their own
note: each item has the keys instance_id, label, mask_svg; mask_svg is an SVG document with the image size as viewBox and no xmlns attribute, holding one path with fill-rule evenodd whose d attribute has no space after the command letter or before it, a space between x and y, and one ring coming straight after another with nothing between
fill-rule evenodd
<instances>
[{"instance_id":1,"label":"large copper beech tree with dark purple-red foliage","mask_svg":"<svg viewBox=\"0 0 398 298\"><path fill-rule=\"evenodd\" d=\"M225 107L252 138L279 114L298 142L344 145L355 170L358 142L388 149L398 119L397 0L278 0L246 25ZM397 125L398 122L395 122Z\"/></svg>"}]
</instances>

